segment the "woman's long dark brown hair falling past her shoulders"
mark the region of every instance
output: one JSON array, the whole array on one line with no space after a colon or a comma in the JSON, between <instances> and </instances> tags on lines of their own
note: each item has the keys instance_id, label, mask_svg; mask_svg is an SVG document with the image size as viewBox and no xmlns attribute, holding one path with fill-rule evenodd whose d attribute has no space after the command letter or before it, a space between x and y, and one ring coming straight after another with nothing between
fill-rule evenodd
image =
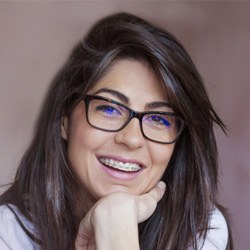
<instances>
[{"instance_id":1,"label":"woman's long dark brown hair falling past her shoulders","mask_svg":"<svg viewBox=\"0 0 250 250\"><path fill-rule=\"evenodd\" d=\"M214 111L203 81L183 46L168 31L128 13L98 21L73 49L54 78L14 183L0 204L14 204L35 226L27 234L44 250L74 248L79 219L74 197L78 181L61 137L61 119L70 115L112 63L123 58L147 62L166 89L166 99L186 126L162 179L167 192L156 211L139 225L143 250L197 249L216 202L218 162ZM233 249L232 241L228 248Z\"/></svg>"}]
</instances>

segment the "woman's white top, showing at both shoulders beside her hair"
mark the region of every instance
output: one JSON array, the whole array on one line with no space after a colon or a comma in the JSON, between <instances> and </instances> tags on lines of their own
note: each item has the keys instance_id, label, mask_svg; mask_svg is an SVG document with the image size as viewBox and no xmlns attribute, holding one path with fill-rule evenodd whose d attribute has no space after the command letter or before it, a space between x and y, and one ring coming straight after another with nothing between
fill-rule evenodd
<instances>
[{"instance_id":1,"label":"woman's white top, showing at both shoulders beside her hair","mask_svg":"<svg viewBox=\"0 0 250 250\"><path fill-rule=\"evenodd\" d=\"M18 211L15 211L23 225L29 232L34 234L32 224ZM225 250L228 241L228 228L222 213L215 209L211 215L210 230L207 232L206 240L199 242L200 250ZM0 206L0 249L1 250L39 250L40 247L27 236L16 220L13 212L6 206Z\"/></svg>"}]
</instances>

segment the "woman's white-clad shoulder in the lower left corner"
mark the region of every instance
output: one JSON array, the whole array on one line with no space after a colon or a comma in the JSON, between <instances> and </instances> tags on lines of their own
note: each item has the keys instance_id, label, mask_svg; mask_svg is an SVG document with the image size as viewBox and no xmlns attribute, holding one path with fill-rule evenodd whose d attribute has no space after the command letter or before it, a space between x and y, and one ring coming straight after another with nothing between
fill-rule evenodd
<instances>
[{"instance_id":1,"label":"woman's white-clad shoulder in the lower left corner","mask_svg":"<svg viewBox=\"0 0 250 250\"><path fill-rule=\"evenodd\" d=\"M0 249L39 249L32 239L30 239L25 233L24 229L18 222L18 219L25 229L31 233L34 232L32 224L15 206L9 206L0 206Z\"/></svg>"}]
</instances>

